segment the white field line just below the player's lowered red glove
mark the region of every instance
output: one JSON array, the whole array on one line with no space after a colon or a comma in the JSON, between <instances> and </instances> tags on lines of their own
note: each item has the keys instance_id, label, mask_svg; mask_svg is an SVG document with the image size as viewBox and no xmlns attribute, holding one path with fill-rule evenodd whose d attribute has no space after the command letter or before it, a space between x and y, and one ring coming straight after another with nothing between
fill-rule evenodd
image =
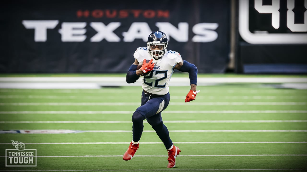
<instances>
[{"instance_id":1,"label":"white field line just below the player's lowered red glove","mask_svg":"<svg viewBox=\"0 0 307 172\"><path fill-rule=\"evenodd\" d=\"M61 102L61 103L0 103L0 106L140 106L140 102ZM306 105L307 102L184 102L169 103L171 106L243 106L243 105Z\"/></svg>"}]
</instances>

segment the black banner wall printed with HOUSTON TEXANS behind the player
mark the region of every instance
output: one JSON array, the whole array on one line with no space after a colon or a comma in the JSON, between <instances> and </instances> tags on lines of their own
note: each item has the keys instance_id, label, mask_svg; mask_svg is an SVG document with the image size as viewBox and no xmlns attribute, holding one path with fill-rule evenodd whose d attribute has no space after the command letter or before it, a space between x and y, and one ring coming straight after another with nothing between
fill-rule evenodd
<instances>
[{"instance_id":1,"label":"black banner wall printed with HOUSTON TEXANS behind the player","mask_svg":"<svg viewBox=\"0 0 307 172\"><path fill-rule=\"evenodd\" d=\"M126 72L152 31L201 73L223 73L229 1L9 1L1 6L2 73Z\"/></svg>"}]
</instances>

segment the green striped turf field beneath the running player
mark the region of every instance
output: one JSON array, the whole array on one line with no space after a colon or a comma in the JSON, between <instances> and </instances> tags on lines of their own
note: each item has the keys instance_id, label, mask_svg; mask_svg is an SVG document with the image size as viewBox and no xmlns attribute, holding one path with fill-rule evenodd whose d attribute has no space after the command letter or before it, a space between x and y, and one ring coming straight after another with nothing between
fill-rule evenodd
<instances>
[{"instance_id":1,"label":"green striped turf field beneath the running player","mask_svg":"<svg viewBox=\"0 0 307 172\"><path fill-rule=\"evenodd\" d=\"M181 149L176 168L144 122L140 148L122 155L132 140L131 116L140 87L86 90L0 89L0 130L73 132L0 134L0 170L94 171L306 171L307 90L261 84L199 86L184 103L188 87L170 86L162 118ZM37 167L5 167L10 140L37 149Z\"/></svg>"}]
</instances>

